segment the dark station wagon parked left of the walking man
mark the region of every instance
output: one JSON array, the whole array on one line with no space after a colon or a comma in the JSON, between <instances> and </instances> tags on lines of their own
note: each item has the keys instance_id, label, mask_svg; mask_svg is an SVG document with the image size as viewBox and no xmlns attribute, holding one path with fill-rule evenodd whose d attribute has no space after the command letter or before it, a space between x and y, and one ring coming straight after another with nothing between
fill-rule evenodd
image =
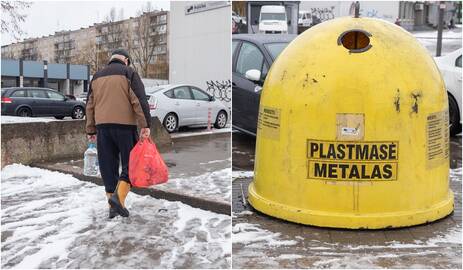
<instances>
[{"instance_id":1,"label":"dark station wagon parked left of the walking man","mask_svg":"<svg viewBox=\"0 0 463 270\"><path fill-rule=\"evenodd\" d=\"M85 116L85 103L48 88L3 88L1 102L2 115L54 116L57 119L66 116L82 119Z\"/></svg>"}]
</instances>

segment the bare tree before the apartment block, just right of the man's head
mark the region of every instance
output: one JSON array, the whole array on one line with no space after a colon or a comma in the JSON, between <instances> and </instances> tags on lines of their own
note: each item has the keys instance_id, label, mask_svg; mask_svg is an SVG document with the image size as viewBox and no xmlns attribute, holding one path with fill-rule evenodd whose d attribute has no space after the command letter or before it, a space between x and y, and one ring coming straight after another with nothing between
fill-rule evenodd
<instances>
[{"instance_id":1,"label":"bare tree before the apartment block, just right of the man's head","mask_svg":"<svg viewBox=\"0 0 463 270\"><path fill-rule=\"evenodd\" d=\"M154 52L159 44L160 33L158 27L153 28L151 15L153 11L151 3L148 2L138 12L136 27L133 27L133 38L130 47L130 54L134 60L134 66L139 67L142 77L148 77L150 67L154 66ZM138 69L138 68L137 68Z\"/></svg>"}]
</instances>

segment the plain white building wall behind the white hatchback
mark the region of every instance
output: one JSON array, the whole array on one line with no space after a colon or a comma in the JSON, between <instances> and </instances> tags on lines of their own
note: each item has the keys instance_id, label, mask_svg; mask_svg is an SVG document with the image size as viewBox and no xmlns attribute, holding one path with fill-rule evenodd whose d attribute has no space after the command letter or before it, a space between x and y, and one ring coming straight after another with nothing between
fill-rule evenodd
<instances>
[{"instance_id":1,"label":"plain white building wall behind the white hatchback","mask_svg":"<svg viewBox=\"0 0 463 270\"><path fill-rule=\"evenodd\" d=\"M230 1L172 1L169 83L196 85L231 105Z\"/></svg>"}]
</instances>

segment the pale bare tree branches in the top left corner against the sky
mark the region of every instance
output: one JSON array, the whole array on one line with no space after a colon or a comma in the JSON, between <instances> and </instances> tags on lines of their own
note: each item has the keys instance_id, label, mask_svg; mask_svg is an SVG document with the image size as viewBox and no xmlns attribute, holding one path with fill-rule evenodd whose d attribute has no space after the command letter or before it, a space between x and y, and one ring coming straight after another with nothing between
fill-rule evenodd
<instances>
[{"instance_id":1,"label":"pale bare tree branches in the top left corner against the sky","mask_svg":"<svg viewBox=\"0 0 463 270\"><path fill-rule=\"evenodd\" d=\"M8 33L16 40L20 39L21 36L24 35L24 31L21 29L20 24L24 22L27 16L21 11L30 6L31 2L2 0L2 34Z\"/></svg>"}]
</instances>

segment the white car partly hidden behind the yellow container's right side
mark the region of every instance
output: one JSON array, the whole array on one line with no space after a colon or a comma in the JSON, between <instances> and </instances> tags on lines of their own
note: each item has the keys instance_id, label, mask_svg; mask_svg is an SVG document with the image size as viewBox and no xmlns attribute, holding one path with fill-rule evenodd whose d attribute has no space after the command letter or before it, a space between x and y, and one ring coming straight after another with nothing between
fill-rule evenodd
<instances>
[{"instance_id":1,"label":"white car partly hidden behind the yellow container's right side","mask_svg":"<svg viewBox=\"0 0 463 270\"><path fill-rule=\"evenodd\" d=\"M450 134L461 132L461 53L462 49L441 57L435 57L437 66L444 78L449 96Z\"/></svg>"}]
</instances>

